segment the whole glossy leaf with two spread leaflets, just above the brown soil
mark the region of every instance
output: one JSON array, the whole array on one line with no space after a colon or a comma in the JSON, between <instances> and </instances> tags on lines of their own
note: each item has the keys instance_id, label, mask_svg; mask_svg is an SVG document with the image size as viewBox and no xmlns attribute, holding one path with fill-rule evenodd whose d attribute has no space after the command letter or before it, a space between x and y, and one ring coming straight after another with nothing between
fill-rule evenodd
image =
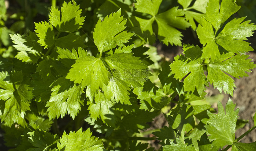
<instances>
[{"instance_id":1,"label":"whole glossy leaf with two spread leaflets, just above the brown soil","mask_svg":"<svg viewBox=\"0 0 256 151\"><path fill-rule=\"evenodd\" d=\"M217 60L211 60L208 64L204 64L204 60L201 59L202 49L198 46L184 45L183 49L185 56L174 57L175 61L170 65L172 73L175 74L174 78L179 80L188 75L183 81L184 91L194 92L196 89L200 96L205 95L203 91L205 86L208 86L208 81L220 92L223 89L224 93L227 92L232 96L235 87L234 80L225 73L239 78L248 76L245 72L251 72L250 69L256 67L253 62L250 62L251 60L246 59L248 56L233 56L233 53L223 53ZM207 65L207 78L204 74L204 65Z\"/></svg>"}]
</instances>

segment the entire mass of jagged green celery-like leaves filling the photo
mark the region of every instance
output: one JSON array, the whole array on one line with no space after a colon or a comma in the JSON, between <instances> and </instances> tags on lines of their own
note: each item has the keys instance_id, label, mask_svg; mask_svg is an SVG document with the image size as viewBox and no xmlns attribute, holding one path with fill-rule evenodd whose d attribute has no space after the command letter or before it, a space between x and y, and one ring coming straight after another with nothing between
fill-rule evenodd
<instances>
[{"instance_id":1,"label":"entire mass of jagged green celery-like leaves filling the photo","mask_svg":"<svg viewBox=\"0 0 256 151\"><path fill-rule=\"evenodd\" d=\"M209 85L233 96L232 77L248 76L256 67L245 41L256 25L232 19L240 8L234 1L59 2L61 7L52 2L34 31L10 33L13 44L2 41L15 50L0 52L6 146L152 151L145 141L157 138L159 150L167 151L255 148L255 142L238 141L256 128L256 115L254 126L235 138L246 122L238 120L231 99L225 109L218 102L218 113L209 104L195 105L207 98ZM0 19L8 20L2 14ZM7 27L0 28L4 35ZM201 46L183 43L187 29ZM163 61L152 46L157 39L182 46L183 54ZM152 129L149 123L159 114L168 126Z\"/></svg>"}]
</instances>

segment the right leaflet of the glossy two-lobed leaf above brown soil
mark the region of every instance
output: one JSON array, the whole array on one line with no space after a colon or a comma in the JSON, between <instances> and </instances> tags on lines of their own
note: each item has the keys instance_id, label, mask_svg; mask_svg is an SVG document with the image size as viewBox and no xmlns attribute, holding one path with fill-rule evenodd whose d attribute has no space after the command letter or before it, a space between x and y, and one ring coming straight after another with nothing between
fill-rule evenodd
<instances>
[{"instance_id":1,"label":"right leaflet of the glossy two-lobed leaf above brown soil","mask_svg":"<svg viewBox=\"0 0 256 151\"><path fill-rule=\"evenodd\" d=\"M209 63L207 65L207 78L210 81L210 84L213 84L214 88L217 87L220 92L223 89L224 93L227 92L233 96L235 87L235 83L233 83L234 80L225 73L228 73L235 78L248 76L245 72L251 72L249 69L256 67L253 62L250 62L250 59L246 59L248 57L248 55L235 55L229 59L224 57L220 60L216 60L216 62Z\"/></svg>"}]
</instances>

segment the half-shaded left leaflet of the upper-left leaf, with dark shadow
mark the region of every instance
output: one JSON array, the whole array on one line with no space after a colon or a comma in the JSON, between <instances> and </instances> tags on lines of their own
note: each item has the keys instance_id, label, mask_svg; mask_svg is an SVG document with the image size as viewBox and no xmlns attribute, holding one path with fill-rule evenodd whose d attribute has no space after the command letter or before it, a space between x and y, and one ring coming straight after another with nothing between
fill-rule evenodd
<instances>
[{"instance_id":1,"label":"half-shaded left leaflet of the upper-left leaf, with dark shadow","mask_svg":"<svg viewBox=\"0 0 256 151\"><path fill-rule=\"evenodd\" d=\"M35 32L38 33L38 43L44 48L50 48L55 44L55 34L53 27L48 22L35 23Z\"/></svg>"}]
</instances>

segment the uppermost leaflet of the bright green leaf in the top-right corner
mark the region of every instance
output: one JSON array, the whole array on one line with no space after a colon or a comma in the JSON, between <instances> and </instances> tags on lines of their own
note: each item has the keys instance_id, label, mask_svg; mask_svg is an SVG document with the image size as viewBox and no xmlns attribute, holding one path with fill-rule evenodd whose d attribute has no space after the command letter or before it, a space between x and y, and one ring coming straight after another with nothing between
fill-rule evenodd
<instances>
[{"instance_id":1,"label":"uppermost leaflet of the bright green leaf in the top-right corner","mask_svg":"<svg viewBox=\"0 0 256 151\"><path fill-rule=\"evenodd\" d=\"M209 0L206 7L205 19L212 23L213 27L218 30L223 23L235 12L240 9L235 1L223 0L219 10L219 0Z\"/></svg>"}]
</instances>

